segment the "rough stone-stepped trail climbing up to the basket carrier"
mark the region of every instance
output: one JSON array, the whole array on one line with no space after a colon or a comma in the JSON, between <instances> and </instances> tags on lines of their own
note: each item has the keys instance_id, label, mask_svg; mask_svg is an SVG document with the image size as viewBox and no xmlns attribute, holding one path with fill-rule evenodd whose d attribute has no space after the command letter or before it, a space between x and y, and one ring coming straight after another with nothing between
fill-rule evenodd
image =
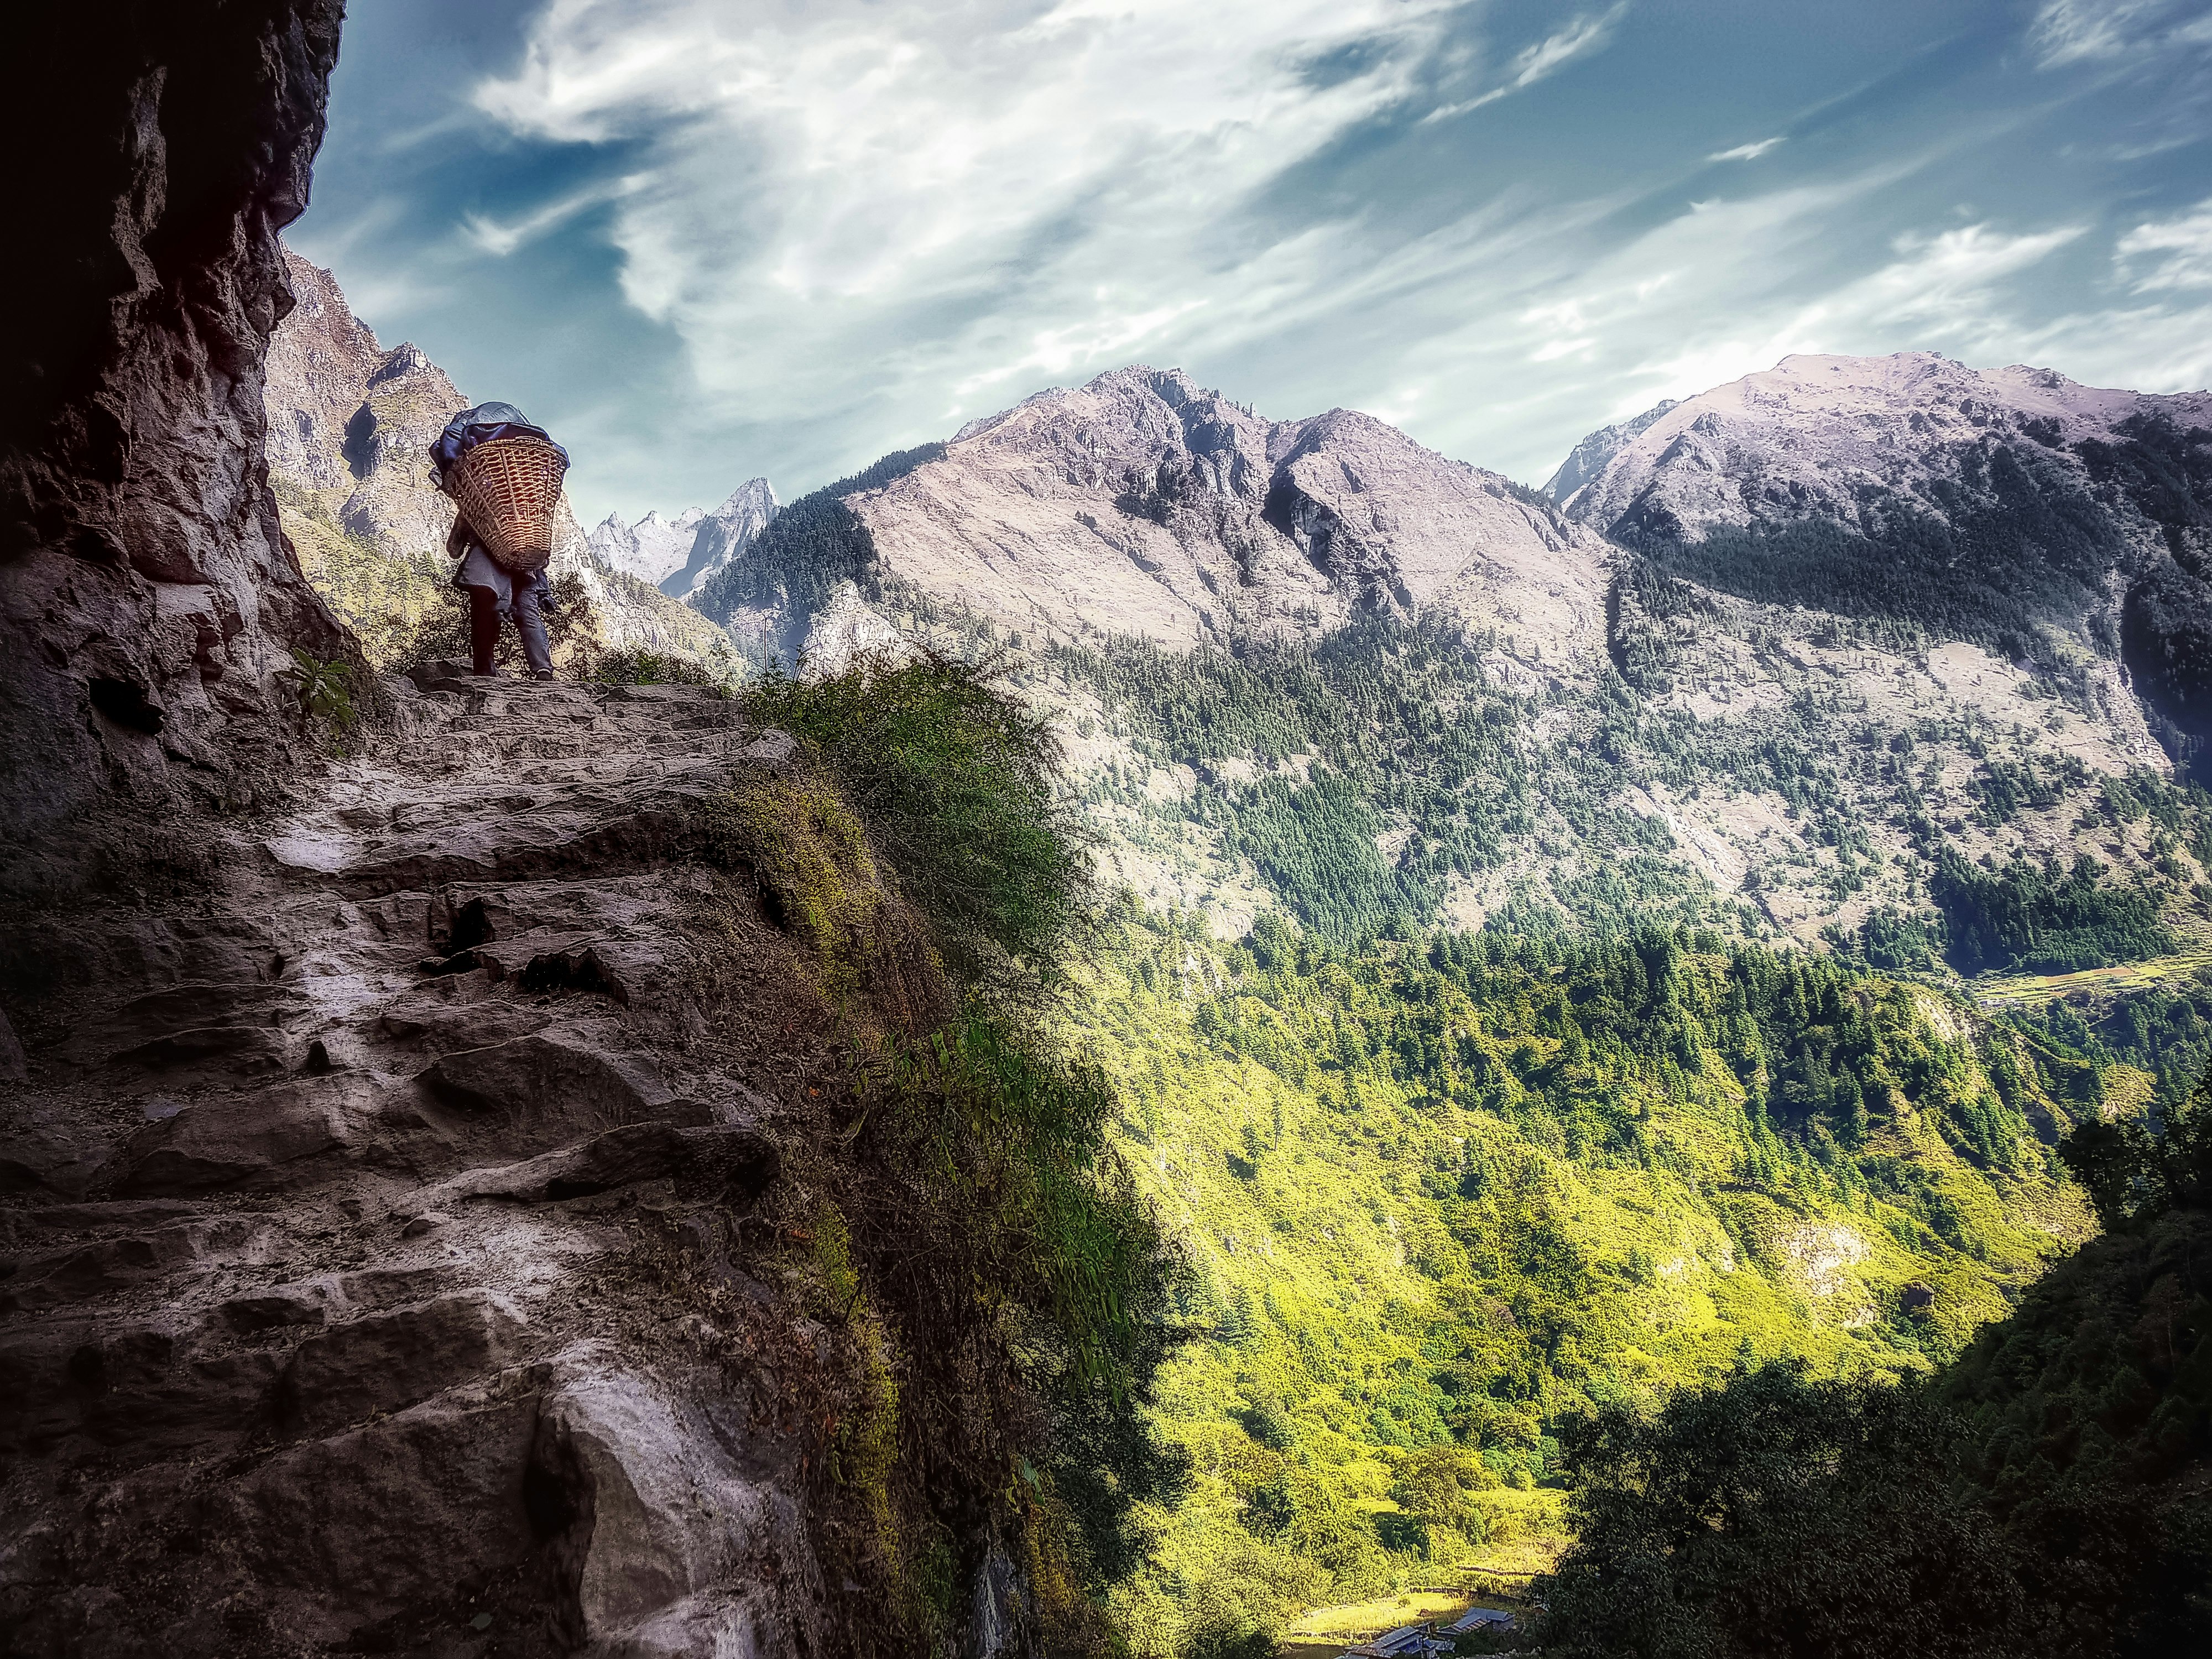
<instances>
[{"instance_id":1,"label":"rough stone-stepped trail climbing up to the basket carrier","mask_svg":"<svg viewBox=\"0 0 2212 1659\"><path fill-rule=\"evenodd\" d=\"M794 1044L686 989L787 757L434 677L204 889L0 931L0 1650L823 1650L827 1336L732 1265Z\"/></svg>"}]
</instances>

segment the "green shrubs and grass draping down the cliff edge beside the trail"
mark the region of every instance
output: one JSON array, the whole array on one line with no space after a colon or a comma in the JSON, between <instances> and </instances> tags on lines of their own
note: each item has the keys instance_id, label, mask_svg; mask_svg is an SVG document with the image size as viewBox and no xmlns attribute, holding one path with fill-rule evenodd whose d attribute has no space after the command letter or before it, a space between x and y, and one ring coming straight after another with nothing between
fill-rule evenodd
<instances>
[{"instance_id":1,"label":"green shrubs and grass draping down the cliff edge beside the trail","mask_svg":"<svg viewBox=\"0 0 2212 1659\"><path fill-rule=\"evenodd\" d=\"M710 856L754 872L856 1053L858 1113L818 1179L847 1228L843 1318L898 1380L841 1453L867 1571L891 1582L900 1639L936 1650L951 1568L931 1540L991 1513L1046 1650L1110 1652L1097 1597L1144 1559L1139 1506L1175 1502L1186 1469L1148 1418L1181 1265L1106 1137L1113 1086L1055 1042L1051 1004L1009 995L1009 975L1057 980L1091 927L1057 748L987 668L942 657L772 670L743 695L810 765L739 781L706 814ZM922 925L964 982L951 1018L933 967L883 971ZM938 995L887 998L914 978Z\"/></svg>"}]
</instances>

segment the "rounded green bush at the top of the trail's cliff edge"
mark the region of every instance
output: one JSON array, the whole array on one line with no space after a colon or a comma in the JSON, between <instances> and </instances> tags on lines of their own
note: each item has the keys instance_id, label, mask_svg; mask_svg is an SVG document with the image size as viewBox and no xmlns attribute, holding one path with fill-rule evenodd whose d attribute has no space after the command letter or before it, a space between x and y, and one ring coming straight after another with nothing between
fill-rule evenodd
<instances>
[{"instance_id":1,"label":"rounded green bush at the top of the trail's cliff edge","mask_svg":"<svg viewBox=\"0 0 2212 1659\"><path fill-rule=\"evenodd\" d=\"M953 973L1051 978L1091 929L1091 836L1060 794L1060 745L991 666L922 653L827 679L772 668L745 710L830 768Z\"/></svg>"}]
</instances>

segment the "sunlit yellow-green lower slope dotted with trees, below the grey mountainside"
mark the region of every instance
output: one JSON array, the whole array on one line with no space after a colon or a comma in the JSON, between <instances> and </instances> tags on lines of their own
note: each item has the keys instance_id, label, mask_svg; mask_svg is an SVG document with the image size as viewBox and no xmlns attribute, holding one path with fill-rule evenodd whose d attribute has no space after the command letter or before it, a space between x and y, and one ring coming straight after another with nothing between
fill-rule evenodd
<instances>
[{"instance_id":1,"label":"sunlit yellow-green lower slope dotted with trees, below the grey mountainside","mask_svg":"<svg viewBox=\"0 0 2212 1659\"><path fill-rule=\"evenodd\" d=\"M2055 1139L2154 1086L1712 936L1128 916L1115 962L1086 1024L1203 1332L1164 1371L1194 1489L1121 1590L1139 1652L1480 1557L1593 1405L1776 1356L1924 1374L2093 1230Z\"/></svg>"}]
</instances>

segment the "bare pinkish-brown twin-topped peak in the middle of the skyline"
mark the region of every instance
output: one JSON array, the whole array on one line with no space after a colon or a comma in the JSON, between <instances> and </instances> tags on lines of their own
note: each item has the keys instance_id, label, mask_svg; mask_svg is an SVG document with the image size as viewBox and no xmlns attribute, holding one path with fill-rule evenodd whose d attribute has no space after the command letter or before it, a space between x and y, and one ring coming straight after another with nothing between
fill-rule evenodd
<instances>
[{"instance_id":1,"label":"bare pinkish-brown twin-topped peak in the middle of the skyline","mask_svg":"<svg viewBox=\"0 0 2212 1659\"><path fill-rule=\"evenodd\" d=\"M1371 416L1265 420L1179 369L1117 369L962 429L847 502L885 575L1006 628L1168 646L1442 606L1595 661L1604 544Z\"/></svg>"}]
</instances>

